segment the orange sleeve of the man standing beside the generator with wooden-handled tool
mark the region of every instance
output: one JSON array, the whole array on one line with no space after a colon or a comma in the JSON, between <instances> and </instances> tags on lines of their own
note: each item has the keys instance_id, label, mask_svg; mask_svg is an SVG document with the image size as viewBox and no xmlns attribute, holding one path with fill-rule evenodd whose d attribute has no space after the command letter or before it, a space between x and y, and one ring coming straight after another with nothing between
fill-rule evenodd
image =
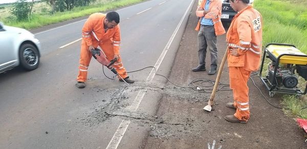
<instances>
[{"instance_id":1,"label":"orange sleeve of the man standing beside the generator with wooden-handled tool","mask_svg":"<svg viewBox=\"0 0 307 149\"><path fill-rule=\"evenodd\" d=\"M252 28L249 24L249 17L243 16L238 18L236 29L239 36L238 54L243 55L251 48Z\"/></svg>"}]
</instances>

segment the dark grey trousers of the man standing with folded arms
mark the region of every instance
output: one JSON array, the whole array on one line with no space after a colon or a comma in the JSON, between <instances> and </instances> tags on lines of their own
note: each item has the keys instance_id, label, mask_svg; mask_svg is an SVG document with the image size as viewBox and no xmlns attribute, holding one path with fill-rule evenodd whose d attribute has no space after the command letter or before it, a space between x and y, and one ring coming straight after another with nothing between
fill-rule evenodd
<instances>
[{"instance_id":1,"label":"dark grey trousers of the man standing with folded arms","mask_svg":"<svg viewBox=\"0 0 307 149\"><path fill-rule=\"evenodd\" d=\"M206 65L205 59L207 48L211 56L211 69L217 68L217 48L216 48L216 35L213 26L201 25L198 33L198 46L199 46L199 66L204 68Z\"/></svg>"}]
</instances>

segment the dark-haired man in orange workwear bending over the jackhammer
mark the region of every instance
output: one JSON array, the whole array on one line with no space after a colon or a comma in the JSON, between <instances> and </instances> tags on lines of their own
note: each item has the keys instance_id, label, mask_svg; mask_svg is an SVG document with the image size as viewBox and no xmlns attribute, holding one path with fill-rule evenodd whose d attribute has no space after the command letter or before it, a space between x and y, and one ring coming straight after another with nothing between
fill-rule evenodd
<instances>
[{"instance_id":1,"label":"dark-haired man in orange workwear bending over the jackhammer","mask_svg":"<svg viewBox=\"0 0 307 149\"><path fill-rule=\"evenodd\" d=\"M92 58L91 50L98 46L104 52L108 60L117 58L114 68L127 83L134 83L127 75L119 54L120 28L119 14L115 11L94 13L86 20L82 28L81 53L79 60L79 74L77 77L77 88L85 88L87 69ZM119 77L120 81L123 81Z\"/></svg>"}]
</instances>

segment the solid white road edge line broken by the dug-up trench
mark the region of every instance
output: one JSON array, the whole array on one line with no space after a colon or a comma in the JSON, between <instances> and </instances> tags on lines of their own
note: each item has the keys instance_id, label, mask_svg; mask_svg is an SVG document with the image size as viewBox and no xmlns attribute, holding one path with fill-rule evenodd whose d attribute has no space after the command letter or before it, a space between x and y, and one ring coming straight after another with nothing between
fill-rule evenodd
<instances>
[{"instance_id":1,"label":"solid white road edge line broken by the dug-up trench","mask_svg":"<svg viewBox=\"0 0 307 149\"><path fill-rule=\"evenodd\" d=\"M177 28L176 28L175 31L173 32L172 36L170 37L168 43L166 44L166 46L165 46L165 48L164 48L164 50L163 50L163 52L161 53L161 55L160 55L158 61L156 62L156 65L155 65L156 70L159 69L159 67L160 67L160 65L161 65L161 63L162 63L162 60L163 60L163 58L165 57L165 55L166 55L166 53L167 53L167 50L169 49L169 47L170 47L170 45L171 45L171 43L172 43L172 41L173 41L173 39L174 39L174 36L176 36L176 34L177 34L177 32L178 32L180 26L182 25L182 22L183 22L185 16L187 15L188 10L190 9L190 7L191 7L191 5L193 4L193 2L194 2L194 1L191 1L189 7L187 8L186 12L185 12L184 15L182 16L182 18L181 18L181 20L180 20L180 22L179 22ZM153 77L155 77L155 74L156 74L155 69L152 69L151 72L150 72L150 74L148 75L148 77L147 77L147 79L146 79L146 82L151 82L152 79L153 79ZM143 97L144 97L146 91L147 91L147 89L143 89L143 90L139 91L139 93L138 93L138 95L136 96L136 98L135 98L133 104L131 104L131 106L129 107L133 112L135 112L135 111L138 109L138 107L139 107L141 101L143 100ZM127 130L127 127L129 126L129 124L130 124L130 120L123 120L123 121L120 123L120 125L119 125L117 131L115 132L115 134L114 134L114 136L112 137L111 141L110 141L109 144L107 145L107 147L106 147L107 149L108 149L108 148L113 148L113 149L116 149L116 148L117 148L117 146L119 145L119 143L120 143L122 137L124 136L124 134L125 134L125 132L126 132L126 130Z\"/></svg>"}]
</instances>

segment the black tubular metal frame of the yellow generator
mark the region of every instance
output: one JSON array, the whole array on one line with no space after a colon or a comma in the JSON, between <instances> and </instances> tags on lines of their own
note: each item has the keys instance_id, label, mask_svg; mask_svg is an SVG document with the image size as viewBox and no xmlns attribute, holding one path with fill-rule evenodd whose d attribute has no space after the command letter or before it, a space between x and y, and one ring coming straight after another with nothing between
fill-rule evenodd
<instances>
[{"instance_id":1,"label":"black tubular metal frame of the yellow generator","mask_svg":"<svg viewBox=\"0 0 307 149\"><path fill-rule=\"evenodd\" d=\"M300 89L297 90L291 90L291 89L278 89L277 88L277 83L276 84L271 84L270 86L268 85L268 83L270 83L270 80L268 80L268 78L266 77L262 77L262 70L264 67L264 62L265 62L265 58L270 58L272 60L272 62L275 64L275 68L274 68L274 73L273 73L273 77L272 79L276 78L276 73L277 73L277 69L279 66L279 62L280 62L280 58L282 58L283 56L294 56L294 57L307 57L307 55L297 55L297 54L280 54L278 57L275 57L267 48L270 45L278 45L278 46L292 46L294 48L296 48L294 45L290 45L290 44L277 44L277 43L271 43L268 44L265 47L264 50L264 55L262 56L262 61L261 61L261 67L260 67L260 72L259 72L259 77L261 79L261 81L265 84L266 88L269 90L269 96L273 97L275 95L275 93L283 93L283 94L294 94L294 95L305 95L307 93L307 83L306 83L306 87L305 87L305 91L302 92ZM268 55L266 55L268 54ZM289 64L295 64L295 63L289 63ZM306 79L305 79L306 80ZM271 80L271 82L274 82L274 80Z\"/></svg>"}]
</instances>

